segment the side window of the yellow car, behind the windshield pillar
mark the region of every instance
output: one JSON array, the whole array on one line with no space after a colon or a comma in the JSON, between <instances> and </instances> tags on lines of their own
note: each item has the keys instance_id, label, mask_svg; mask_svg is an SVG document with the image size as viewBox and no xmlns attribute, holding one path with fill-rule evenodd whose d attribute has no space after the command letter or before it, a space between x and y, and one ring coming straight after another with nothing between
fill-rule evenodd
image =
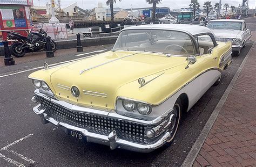
<instances>
[{"instance_id":1,"label":"side window of the yellow car, behind the windshield pillar","mask_svg":"<svg viewBox=\"0 0 256 167\"><path fill-rule=\"evenodd\" d=\"M197 36L197 42L199 46L200 55L209 53L209 51L214 47L214 44L210 35Z\"/></svg>"}]
</instances>

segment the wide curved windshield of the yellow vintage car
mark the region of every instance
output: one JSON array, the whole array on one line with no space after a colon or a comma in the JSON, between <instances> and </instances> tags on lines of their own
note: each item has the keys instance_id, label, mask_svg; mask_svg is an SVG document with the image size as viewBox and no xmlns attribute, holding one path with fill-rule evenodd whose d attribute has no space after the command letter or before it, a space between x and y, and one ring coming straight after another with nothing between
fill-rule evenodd
<instances>
[{"instance_id":1,"label":"wide curved windshield of the yellow vintage car","mask_svg":"<svg viewBox=\"0 0 256 167\"><path fill-rule=\"evenodd\" d=\"M114 50L194 55L196 48L188 34L165 30L126 30L119 34Z\"/></svg>"}]
</instances>

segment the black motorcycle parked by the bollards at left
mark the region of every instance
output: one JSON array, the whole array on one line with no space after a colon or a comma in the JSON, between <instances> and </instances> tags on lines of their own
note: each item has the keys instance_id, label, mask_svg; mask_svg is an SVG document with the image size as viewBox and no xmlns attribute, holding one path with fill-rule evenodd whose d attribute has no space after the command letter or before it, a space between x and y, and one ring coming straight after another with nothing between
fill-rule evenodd
<instances>
[{"instance_id":1,"label":"black motorcycle parked by the bollards at left","mask_svg":"<svg viewBox=\"0 0 256 167\"><path fill-rule=\"evenodd\" d=\"M28 52L39 52L46 50L47 33L43 30L38 32L31 32L28 37L14 32L7 32L7 38L10 40L17 40L10 46L11 54L15 57L22 57ZM56 42L51 40L52 51L57 50Z\"/></svg>"}]
</instances>

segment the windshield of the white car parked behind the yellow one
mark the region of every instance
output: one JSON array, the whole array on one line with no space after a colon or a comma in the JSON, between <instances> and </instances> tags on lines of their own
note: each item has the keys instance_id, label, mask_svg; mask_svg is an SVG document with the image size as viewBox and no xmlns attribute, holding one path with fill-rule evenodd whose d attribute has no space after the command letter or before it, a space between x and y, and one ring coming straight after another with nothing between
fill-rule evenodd
<instances>
[{"instance_id":1,"label":"windshield of the white car parked behind the yellow one","mask_svg":"<svg viewBox=\"0 0 256 167\"><path fill-rule=\"evenodd\" d=\"M228 30L242 30L242 22L236 21L210 21L208 28L213 29L228 29Z\"/></svg>"}]
</instances>

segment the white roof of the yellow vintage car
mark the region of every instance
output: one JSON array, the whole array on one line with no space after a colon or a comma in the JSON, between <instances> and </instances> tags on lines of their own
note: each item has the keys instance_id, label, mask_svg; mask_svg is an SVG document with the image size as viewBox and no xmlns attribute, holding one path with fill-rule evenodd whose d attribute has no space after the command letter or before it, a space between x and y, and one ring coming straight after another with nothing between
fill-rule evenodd
<instances>
[{"instance_id":1,"label":"white roof of the yellow vintage car","mask_svg":"<svg viewBox=\"0 0 256 167\"><path fill-rule=\"evenodd\" d=\"M212 33L213 34L213 32L205 26L189 25L189 24L148 24L148 25L127 27L127 28L124 28L122 31L139 30L139 29L183 31L186 33L190 33L191 35L197 35L197 34L201 34L201 33Z\"/></svg>"}]
</instances>

